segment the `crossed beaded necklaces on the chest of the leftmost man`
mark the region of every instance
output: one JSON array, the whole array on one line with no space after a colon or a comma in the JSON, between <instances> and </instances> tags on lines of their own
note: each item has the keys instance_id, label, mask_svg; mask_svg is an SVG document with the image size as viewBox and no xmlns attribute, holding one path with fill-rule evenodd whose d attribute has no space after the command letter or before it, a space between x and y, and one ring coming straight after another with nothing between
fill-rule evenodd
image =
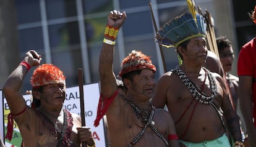
<instances>
[{"instance_id":1,"label":"crossed beaded necklaces on the chest of the leftmost man","mask_svg":"<svg viewBox=\"0 0 256 147\"><path fill-rule=\"evenodd\" d=\"M57 146L72 147L74 144L70 140L70 134L73 127L73 117L66 109L63 109L63 113L64 121L61 130L57 123L52 122L47 116L45 116L45 114L36 110L36 114L41 118L42 124L49 129L49 131L55 136L56 140L59 140Z\"/></svg>"}]
</instances>

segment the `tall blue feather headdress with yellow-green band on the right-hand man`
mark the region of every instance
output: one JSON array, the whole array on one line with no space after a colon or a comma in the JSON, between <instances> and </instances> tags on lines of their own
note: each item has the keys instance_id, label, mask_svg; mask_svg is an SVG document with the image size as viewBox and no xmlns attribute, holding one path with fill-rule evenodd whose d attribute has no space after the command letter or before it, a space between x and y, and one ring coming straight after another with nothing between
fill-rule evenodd
<instances>
[{"instance_id":1,"label":"tall blue feather headdress with yellow-green band on the right-hand man","mask_svg":"<svg viewBox=\"0 0 256 147\"><path fill-rule=\"evenodd\" d=\"M155 41L164 47L176 47L184 41L197 36L205 37L207 25L205 18L195 14L195 18L189 12L170 20L156 33Z\"/></svg>"}]
</instances>

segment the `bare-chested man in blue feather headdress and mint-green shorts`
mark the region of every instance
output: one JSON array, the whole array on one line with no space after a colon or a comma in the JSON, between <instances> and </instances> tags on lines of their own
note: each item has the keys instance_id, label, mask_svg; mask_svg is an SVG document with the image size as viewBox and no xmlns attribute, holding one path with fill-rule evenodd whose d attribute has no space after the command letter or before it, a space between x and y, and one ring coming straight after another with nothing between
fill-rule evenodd
<instances>
[{"instance_id":1,"label":"bare-chested man in blue feather headdress and mint-green shorts","mask_svg":"<svg viewBox=\"0 0 256 147\"><path fill-rule=\"evenodd\" d=\"M208 52L205 33L202 15L193 17L190 13L174 18L158 31L156 42L176 47L182 64L160 77L152 104L156 108L167 105L179 142L186 146L231 146L227 130L235 145L241 146L239 121L225 82L220 74L202 66Z\"/></svg>"}]
</instances>

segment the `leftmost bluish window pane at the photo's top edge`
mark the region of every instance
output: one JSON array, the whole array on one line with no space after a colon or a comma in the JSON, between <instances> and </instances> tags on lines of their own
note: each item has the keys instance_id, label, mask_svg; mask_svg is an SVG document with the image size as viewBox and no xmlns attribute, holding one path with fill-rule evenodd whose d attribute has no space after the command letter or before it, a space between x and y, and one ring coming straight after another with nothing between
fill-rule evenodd
<instances>
[{"instance_id":1,"label":"leftmost bluish window pane at the photo's top edge","mask_svg":"<svg viewBox=\"0 0 256 147\"><path fill-rule=\"evenodd\" d=\"M41 21L40 4L35 0L16 0L18 24Z\"/></svg>"}]
</instances>

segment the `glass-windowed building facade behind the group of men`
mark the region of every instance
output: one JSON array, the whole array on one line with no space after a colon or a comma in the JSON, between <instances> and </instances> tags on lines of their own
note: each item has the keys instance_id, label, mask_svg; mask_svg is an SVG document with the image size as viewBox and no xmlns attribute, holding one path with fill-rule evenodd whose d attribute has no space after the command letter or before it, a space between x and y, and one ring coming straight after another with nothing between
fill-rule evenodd
<instances>
[{"instance_id":1,"label":"glass-windowed building facade behind the group of men","mask_svg":"<svg viewBox=\"0 0 256 147\"><path fill-rule=\"evenodd\" d=\"M256 2L246 1L195 0L196 6L211 12L216 37L226 35L233 42L236 57L242 44L255 36L256 28L247 12L254 9ZM188 11L186 0L150 2L158 27ZM159 46L154 42L155 28L148 4L148 0L16 0L19 54L14 57L22 60L25 52L36 50L43 57L41 63L53 63L64 71L67 87L78 85L79 68L83 68L85 84L98 82L106 17L109 10L116 9L126 11L127 20L117 37L114 72L119 72L122 59L131 50L141 50L151 56L158 79L164 67ZM175 50L163 48L163 53L166 69L174 68L178 64ZM17 64L12 64L11 69ZM34 69L24 79L24 93L31 89L30 76ZM233 73L236 74L236 67ZM1 76L0 86L9 74Z\"/></svg>"}]
</instances>

